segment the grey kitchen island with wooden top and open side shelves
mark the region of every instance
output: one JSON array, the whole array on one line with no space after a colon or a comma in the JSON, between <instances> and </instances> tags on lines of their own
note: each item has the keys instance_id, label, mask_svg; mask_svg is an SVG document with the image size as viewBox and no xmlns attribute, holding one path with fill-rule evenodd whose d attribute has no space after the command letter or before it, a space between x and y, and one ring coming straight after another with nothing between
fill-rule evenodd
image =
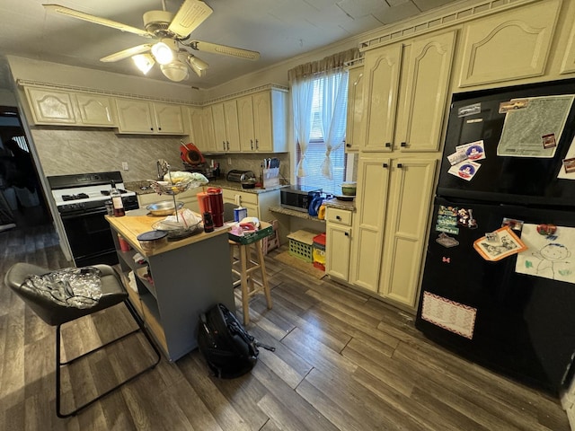
<instances>
[{"instance_id":1,"label":"grey kitchen island with wooden top and open side shelves","mask_svg":"<svg viewBox=\"0 0 575 431\"><path fill-rule=\"evenodd\" d=\"M199 314L216 303L235 310L226 226L196 233L144 251L137 235L152 230L159 217L146 211L106 216L111 225L119 268L130 302L146 322L164 355L175 361L198 347ZM122 251L119 238L129 244ZM127 247L124 245L123 250ZM143 259L136 261L139 253ZM151 277L146 277L149 270ZM129 273L134 273L130 280Z\"/></svg>"}]
</instances>

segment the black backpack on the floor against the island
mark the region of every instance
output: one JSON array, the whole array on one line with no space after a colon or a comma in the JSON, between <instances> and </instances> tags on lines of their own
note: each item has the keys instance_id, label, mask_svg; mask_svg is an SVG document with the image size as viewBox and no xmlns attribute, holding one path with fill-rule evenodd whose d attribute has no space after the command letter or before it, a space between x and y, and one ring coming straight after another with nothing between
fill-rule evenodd
<instances>
[{"instance_id":1,"label":"black backpack on the floor against the island","mask_svg":"<svg viewBox=\"0 0 575 431\"><path fill-rule=\"evenodd\" d=\"M199 315L198 345L209 369L223 379L252 370L260 354L258 347L275 351L257 342L223 303Z\"/></svg>"}]
</instances>

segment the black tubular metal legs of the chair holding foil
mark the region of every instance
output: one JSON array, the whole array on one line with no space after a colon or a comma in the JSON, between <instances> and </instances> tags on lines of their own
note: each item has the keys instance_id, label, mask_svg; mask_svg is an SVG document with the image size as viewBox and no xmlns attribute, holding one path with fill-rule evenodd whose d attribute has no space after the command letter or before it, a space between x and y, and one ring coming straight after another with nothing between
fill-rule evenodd
<instances>
[{"instance_id":1,"label":"black tubular metal legs of the chair holding foil","mask_svg":"<svg viewBox=\"0 0 575 431\"><path fill-rule=\"evenodd\" d=\"M80 411L81 409L84 409L90 405L92 405L94 402L96 402L97 400L101 400L103 397L105 397L106 395L110 394L112 391L116 391L120 386L123 386L126 383L129 383L131 381L133 381L134 379L136 379L138 376L140 376L141 374L146 373L146 371L149 371L153 368L155 368L155 365L158 365L160 362L160 359L162 358L160 351L158 350L158 347L155 346L154 341L152 340L152 338L150 337L150 335L147 333L147 330L144 326L144 322L140 319L140 317L137 315L136 310L134 310L134 306L129 302L128 299L126 299L124 301L124 304L126 305L126 308L128 308L128 312L130 312L130 314L132 315L132 317L134 318L134 320L137 323L138 329L137 330L132 330L130 332L128 332L127 334L124 334L122 336L120 336L117 339L112 339L110 342L103 344L100 347L96 347L93 348L92 350L90 350L89 352L86 352L80 356L76 356L73 359L70 359L66 362L61 362L61 356L60 356L60 343L61 343L61 326L62 325L57 325L56 328L56 414L58 418L69 418L70 416L75 416L78 411ZM111 388L108 391L105 391L104 393L102 393L101 395L99 395L98 397L94 398L91 401L86 402L84 405L78 407L77 409L69 412L69 413L62 413L61 412L61 400L60 400L60 390L61 390L61 368L62 366L65 365L69 365L73 362L75 362L76 360L88 356L90 354L92 354L93 352L102 349L103 347L106 346L110 346L111 344L114 344L116 342L118 342L121 339L125 339L126 337L128 337L129 335L132 335L136 332L142 331L144 333L144 336L147 339L147 342L149 343L150 347L152 347L155 351L155 355L156 355L156 359L155 359L155 363L152 365L148 365L146 368L144 368L142 371L138 372L137 374L132 375L131 377L129 377L127 380L123 381L122 383L119 383L118 385L114 386L113 388Z\"/></svg>"}]
</instances>

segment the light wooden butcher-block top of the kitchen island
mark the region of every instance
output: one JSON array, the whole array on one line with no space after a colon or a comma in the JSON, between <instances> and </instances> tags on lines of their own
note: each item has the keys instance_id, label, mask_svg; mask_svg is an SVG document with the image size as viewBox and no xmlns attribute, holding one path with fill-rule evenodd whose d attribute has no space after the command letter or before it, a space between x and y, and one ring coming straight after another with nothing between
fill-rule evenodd
<instances>
[{"instance_id":1,"label":"light wooden butcher-block top of the kitchen island","mask_svg":"<svg viewBox=\"0 0 575 431\"><path fill-rule=\"evenodd\" d=\"M105 216L106 220L111 224L111 227L121 234L134 249L142 254L142 256L146 257L179 249L180 247L193 244L194 242L208 240L217 235L227 234L229 231L229 226L225 224L222 227L214 229L214 232L205 233L201 231L179 241L170 241L164 247L156 249L155 251L144 251L137 241L137 235L153 231L154 229L152 228L152 224L155 224L155 222L164 218L147 216L146 213L147 211L144 209L135 209L132 211L126 211L126 216L123 217Z\"/></svg>"}]
</instances>

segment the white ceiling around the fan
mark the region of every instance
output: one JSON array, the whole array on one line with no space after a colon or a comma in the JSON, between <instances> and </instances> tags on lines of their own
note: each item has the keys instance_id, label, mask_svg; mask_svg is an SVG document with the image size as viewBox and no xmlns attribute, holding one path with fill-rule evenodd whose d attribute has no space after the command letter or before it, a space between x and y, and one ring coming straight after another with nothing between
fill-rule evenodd
<instances>
[{"instance_id":1,"label":"white ceiling around the fan","mask_svg":"<svg viewBox=\"0 0 575 431\"><path fill-rule=\"evenodd\" d=\"M254 62L195 51L197 57L210 65L208 74L199 78L191 73L185 83L199 88L217 86L234 77L452 1L206 0L214 13L192 32L193 39L256 50L261 58ZM99 59L148 40L91 22L47 13L43 3L61 4L144 29L142 14L162 10L162 0L0 1L1 55L141 75L129 58L116 63L102 63ZM166 9L173 13L181 3L182 0L165 0ZM167 80L157 66L148 76Z\"/></svg>"}]
</instances>

